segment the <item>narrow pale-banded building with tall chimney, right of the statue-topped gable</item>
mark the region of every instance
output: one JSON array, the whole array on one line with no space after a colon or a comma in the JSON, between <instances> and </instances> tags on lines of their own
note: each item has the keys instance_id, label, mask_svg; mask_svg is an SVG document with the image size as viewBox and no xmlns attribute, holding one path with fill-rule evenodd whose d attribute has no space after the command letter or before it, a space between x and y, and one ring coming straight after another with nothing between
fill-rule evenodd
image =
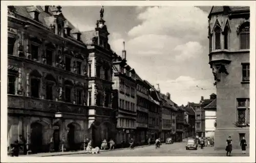
<instances>
[{"instance_id":1,"label":"narrow pale-banded building with tall chimney, right of the statue-topped gable","mask_svg":"<svg viewBox=\"0 0 256 163\"><path fill-rule=\"evenodd\" d=\"M123 42L124 44L124 42ZM113 61L113 90L116 92L114 100L117 110L116 143L129 143L135 139L136 129L136 80L135 70L126 64L126 50L122 50L122 57L115 54Z\"/></svg>"}]
</instances>

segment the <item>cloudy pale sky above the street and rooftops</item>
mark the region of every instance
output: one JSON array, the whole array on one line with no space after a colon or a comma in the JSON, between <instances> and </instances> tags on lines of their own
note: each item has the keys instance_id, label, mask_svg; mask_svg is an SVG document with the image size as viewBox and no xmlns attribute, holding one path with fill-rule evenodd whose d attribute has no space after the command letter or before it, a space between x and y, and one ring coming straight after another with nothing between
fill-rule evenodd
<instances>
[{"instance_id":1,"label":"cloudy pale sky above the street and rooftops","mask_svg":"<svg viewBox=\"0 0 256 163\"><path fill-rule=\"evenodd\" d=\"M207 23L211 7L104 6L111 48L127 64L177 104L199 102L216 93L208 64ZM99 6L62 6L63 15L80 31L95 28Z\"/></svg>"}]
</instances>

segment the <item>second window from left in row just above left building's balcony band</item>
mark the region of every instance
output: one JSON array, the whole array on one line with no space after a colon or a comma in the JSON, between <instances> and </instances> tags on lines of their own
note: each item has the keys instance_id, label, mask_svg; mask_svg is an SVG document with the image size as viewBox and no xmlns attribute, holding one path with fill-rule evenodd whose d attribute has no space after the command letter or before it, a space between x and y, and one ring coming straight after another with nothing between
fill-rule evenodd
<instances>
[{"instance_id":1,"label":"second window from left in row just above left building's balcony band","mask_svg":"<svg viewBox=\"0 0 256 163\"><path fill-rule=\"evenodd\" d=\"M39 98L41 74L37 70L30 73L31 97Z\"/></svg>"}]
</instances>

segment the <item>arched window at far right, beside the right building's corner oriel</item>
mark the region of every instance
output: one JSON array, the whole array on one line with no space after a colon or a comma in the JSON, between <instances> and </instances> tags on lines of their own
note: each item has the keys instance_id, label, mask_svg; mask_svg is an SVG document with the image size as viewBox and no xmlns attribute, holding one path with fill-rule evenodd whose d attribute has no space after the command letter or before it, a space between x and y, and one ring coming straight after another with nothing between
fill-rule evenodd
<instances>
[{"instance_id":1,"label":"arched window at far right, beside the right building's corner oriel","mask_svg":"<svg viewBox=\"0 0 256 163\"><path fill-rule=\"evenodd\" d=\"M250 23L245 22L240 26L240 49L250 48Z\"/></svg>"}]
</instances>

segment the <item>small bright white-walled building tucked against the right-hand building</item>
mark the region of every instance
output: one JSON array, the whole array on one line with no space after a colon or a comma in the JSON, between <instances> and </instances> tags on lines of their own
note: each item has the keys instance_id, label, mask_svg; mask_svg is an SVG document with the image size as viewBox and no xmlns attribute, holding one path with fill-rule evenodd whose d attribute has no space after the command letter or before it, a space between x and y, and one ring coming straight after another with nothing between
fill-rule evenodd
<instances>
[{"instance_id":1,"label":"small bright white-walled building tucked against the right-hand building","mask_svg":"<svg viewBox=\"0 0 256 163\"><path fill-rule=\"evenodd\" d=\"M204 107L205 137L214 137L216 129L216 99Z\"/></svg>"}]
</instances>

